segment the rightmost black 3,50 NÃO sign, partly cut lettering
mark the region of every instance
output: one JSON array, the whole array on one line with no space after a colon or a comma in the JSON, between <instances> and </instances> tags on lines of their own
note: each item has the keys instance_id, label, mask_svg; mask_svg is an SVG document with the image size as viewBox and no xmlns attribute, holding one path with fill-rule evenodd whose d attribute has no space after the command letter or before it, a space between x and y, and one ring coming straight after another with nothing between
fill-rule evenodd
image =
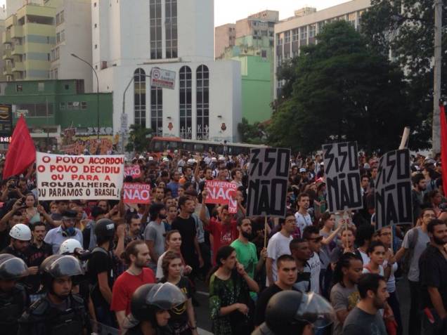
<instances>
[{"instance_id":1,"label":"rightmost black 3,50 N\u00c3O sign, partly cut lettering","mask_svg":"<svg viewBox=\"0 0 447 335\"><path fill-rule=\"evenodd\" d=\"M375 221L381 229L396 223L413 223L410 152L387 152L380 158L375 182Z\"/></svg>"}]
</instances>

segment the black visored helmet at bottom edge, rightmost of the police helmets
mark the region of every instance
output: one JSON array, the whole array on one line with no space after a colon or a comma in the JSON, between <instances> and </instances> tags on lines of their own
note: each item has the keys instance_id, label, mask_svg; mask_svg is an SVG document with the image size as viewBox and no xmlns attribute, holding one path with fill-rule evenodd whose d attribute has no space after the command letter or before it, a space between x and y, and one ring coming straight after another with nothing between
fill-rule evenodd
<instances>
[{"instance_id":1,"label":"black visored helmet at bottom edge, rightmost of the police helmets","mask_svg":"<svg viewBox=\"0 0 447 335\"><path fill-rule=\"evenodd\" d=\"M330 303L313 292L278 292L266 308L266 324L276 334L301 334L306 324L323 329L334 320L335 312Z\"/></svg>"}]
</instances>

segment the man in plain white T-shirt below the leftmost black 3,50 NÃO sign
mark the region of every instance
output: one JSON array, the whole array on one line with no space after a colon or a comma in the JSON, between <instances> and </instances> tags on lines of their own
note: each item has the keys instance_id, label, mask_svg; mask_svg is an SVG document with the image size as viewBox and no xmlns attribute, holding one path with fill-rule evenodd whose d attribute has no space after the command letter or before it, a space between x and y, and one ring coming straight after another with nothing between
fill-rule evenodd
<instances>
[{"instance_id":1,"label":"man in plain white T-shirt below the leftmost black 3,50 N\u00c3O sign","mask_svg":"<svg viewBox=\"0 0 447 335\"><path fill-rule=\"evenodd\" d=\"M296 228L296 222L292 213L287 213L285 218L280 218L281 230L268 240L266 272L266 286L273 285L278 280L276 260L285 254L290 255L290 241L292 232Z\"/></svg>"}]
</instances>

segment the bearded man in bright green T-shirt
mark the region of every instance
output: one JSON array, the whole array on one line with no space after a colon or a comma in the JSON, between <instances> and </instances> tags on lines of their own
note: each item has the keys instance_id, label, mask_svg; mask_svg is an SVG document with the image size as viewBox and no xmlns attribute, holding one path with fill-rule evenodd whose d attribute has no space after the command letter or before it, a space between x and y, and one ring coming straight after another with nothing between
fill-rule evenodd
<instances>
[{"instance_id":1,"label":"bearded man in bright green T-shirt","mask_svg":"<svg viewBox=\"0 0 447 335\"><path fill-rule=\"evenodd\" d=\"M244 265L247 275L254 279L254 275L261 270L266 261L267 249L262 249L261 258L258 261L256 246L248 240L252 236L250 218L239 218L238 232L239 237L231 243L231 247L235 249L238 262ZM252 295L256 296L253 292Z\"/></svg>"}]
</instances>

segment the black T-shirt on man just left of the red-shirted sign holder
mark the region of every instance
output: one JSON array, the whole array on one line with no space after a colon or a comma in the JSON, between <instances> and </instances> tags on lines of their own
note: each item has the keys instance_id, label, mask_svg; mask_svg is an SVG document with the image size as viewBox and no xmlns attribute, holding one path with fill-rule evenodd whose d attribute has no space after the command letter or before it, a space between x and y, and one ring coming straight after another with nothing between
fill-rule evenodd
<instances>
[{"instance_id":1,"label":"black T-shirt on man just left of the red-shirted sign holder","mask_svg":"<svg viewBox=\"0 0 447 335\"><path fill-rule=\"evenodd\" d=\"M195 221L192 216L189 218L181 218L177 216L171 225L172 230L179 230L181 235L181 254L187 265L197 268L198 259L195 254L194 240L197 234L195 230Z\"/></svg>"}]
</instances>

